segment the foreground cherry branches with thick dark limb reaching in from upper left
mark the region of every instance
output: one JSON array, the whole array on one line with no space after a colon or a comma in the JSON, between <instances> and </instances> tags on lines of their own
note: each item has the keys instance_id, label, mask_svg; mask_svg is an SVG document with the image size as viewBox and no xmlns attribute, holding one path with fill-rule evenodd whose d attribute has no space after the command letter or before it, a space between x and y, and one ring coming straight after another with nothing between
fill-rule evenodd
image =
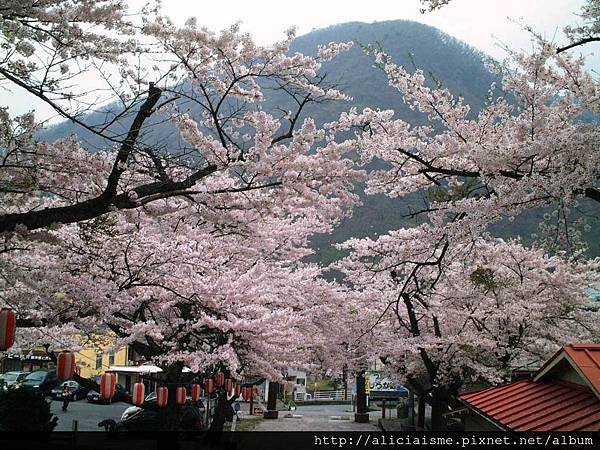
<instances>
[{"instance_id":1,"label":"foreground cherry branches with thick dark limb reaching in from upper left","mask_svg":"<svg viewBox=\"0 0 600 450\"><path fill-rule=\"evenodd\" d=\"M322 61L347 49L349 44L322 48L316 58L288 55L293 31L283 42L260 47L239 33L237 26L214 33L198 28L190 20L185 27L177 28L151 10L145 11L141 23L136 25L141 31L132 38L128 33L133 25L122 20L123 11L124 5L119 1L87 0L23 5L15 2L1 10L6 56L0 65L0 76L48 102L85 130L102 136L114 148L106 156L112 169L108 173L102 171L103 189L90 195L87 187L77 186L75 172L72 182L61 180L72 184L67 188L70 197L58 201L61 197L52 188L37 183L38 167L34 164L64 167L68 159L57 160L57 155L65 154L63 147L76 144L58 142L54 150L46 148L46 153L38 155L39 145L32 139L36 128L31 115L11 118L3 109L5 155L0 176L2 195L7 197L3 203L24 205L2 211L0 231L75 223L115 208L138 208L156 199L193 192L203 178L245 159L248 140L244 127L252 129L259 122L264 127L275 126L275 122L260 116L265 92L267 97L274 91L283 93L297 106L286 113L285 119L283 115L278 117L286 125L278 128L279 135L273 136L272 145L293 137L300 125L298 117L307 104L345 98L317 71ZM82 31L84 25L92 32ZM100 30L96 32L96 28ZM109 31L118 32L117 38L107 37L112 35ZM97 69L103 92L122 104L119 112L106 113L100 123L88 123L89 117L95 116L81 114L89 112L86 103L102 103L101 99L94 98L94 92L89 90L73 92L75 87L68 84L78 80L79 75L71 74L69 62L75 66L81 60L87 62L81 71ZM202 110L202 117L197 118L198 131L192 125L183 133L184 138L196 133L199 140L156 142L151 131L158 123L190 127L185 111L172 108L172 103L181 99ZM69 109L65 102L75 106ZM154 121L149 121L151 116L156 116ZM129 125L123 129L118 124ZM192 147L199 144L206 145L206 149ZM269 147L264 145L265 149ZM123 191L120 181L126 168L137 177L129 176L127 190ZM173 171L178 177L173 177ZM63 171L62 176L70 175ZM255 180L242 182L256 188ZM15 196L21 197L16 201ZM54 203L37 202L46 197ZM29 202L31 199L33 203Z\"/></svg>"}]
</instances>

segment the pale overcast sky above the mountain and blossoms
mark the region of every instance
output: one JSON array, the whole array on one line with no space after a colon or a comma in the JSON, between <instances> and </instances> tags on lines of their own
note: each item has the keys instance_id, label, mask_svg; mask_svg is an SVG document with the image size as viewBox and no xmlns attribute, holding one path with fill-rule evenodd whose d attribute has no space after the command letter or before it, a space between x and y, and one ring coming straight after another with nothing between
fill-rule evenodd
<instances>
[{"instance_id":1,"label":"pale overcast sky above the mountain and blossoms","mask_svg":"<svg viewBox=\"0 0 600 450\"><path fill-rule=\"evenodd\" d=\"M132 12L139 11L146 0L129 0ZM497 59L505 54L499 43L513 49L530 50L530 36L519 24L527 24L556 43L565 42L562 29L578 21L577 14L584 0L453 0L440 11L421 14L418 0L228 0L190 1L163 0L163 10L176 23L196 16L200 25L214 30L228 27L236 21L242 29L254 35L261 44L280 40L290 26L298 34L316 28L350 21L375 22L409 19L440 28L444 32L484 51ZM590 55L588 66L600 68L600 44L584 47ZM592 53L596 51L598 56ZM2 104L12 113L22 113L35 107L40 119L54 114L43 105L24 104L22 93L2 93Z\"/></svg>"}]
</instances>

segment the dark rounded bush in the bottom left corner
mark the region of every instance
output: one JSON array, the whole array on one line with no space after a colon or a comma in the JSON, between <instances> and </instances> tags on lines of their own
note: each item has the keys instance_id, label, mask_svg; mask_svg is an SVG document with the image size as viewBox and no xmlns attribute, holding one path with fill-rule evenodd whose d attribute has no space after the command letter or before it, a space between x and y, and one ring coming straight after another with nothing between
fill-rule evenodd
<instances>
[{"instance_id":1,"label":"dark rounded bush in the bottom left corner","mask_svg":"<svg viewBox=\"0 0 600 450\"><path fill-rule=\"evenodd\" d=\"M50 433L57 422L42 394L24 388L0 392L0 431Z\"/></svg>"}]
</instances>

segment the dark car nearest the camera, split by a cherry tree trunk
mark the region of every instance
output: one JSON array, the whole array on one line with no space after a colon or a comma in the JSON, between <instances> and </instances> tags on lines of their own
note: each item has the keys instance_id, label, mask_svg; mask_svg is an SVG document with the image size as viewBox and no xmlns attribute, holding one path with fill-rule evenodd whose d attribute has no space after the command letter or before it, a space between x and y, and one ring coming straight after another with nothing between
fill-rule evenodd
<instances>
[{"instance_id":1,"label":"dark car nearest the camera, split by a cherry tree trunk","mask_svg":"<svg viewBox=\"0 0 600 450\"><path fill-rule=\"evenodd\" d=\"M98 424L109 432L140 432L160 430L162 423L159 412L155 409L138 409L126 419L115 422L112 419L103 420ZM202 414L198 407L186 405L179 424L181 431L201 431L203 429Z\"/></svg>"}]
</instances>

